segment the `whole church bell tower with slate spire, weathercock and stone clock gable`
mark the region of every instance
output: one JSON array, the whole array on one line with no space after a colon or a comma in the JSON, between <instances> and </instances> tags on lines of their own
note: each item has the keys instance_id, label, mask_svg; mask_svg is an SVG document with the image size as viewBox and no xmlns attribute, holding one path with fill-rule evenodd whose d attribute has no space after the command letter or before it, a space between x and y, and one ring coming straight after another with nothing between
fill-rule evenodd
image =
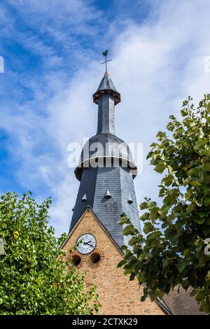
<instances>
[{"instance_id":1,"label":"whole church bell tower with slate spire, weathercock and stone clock gable","mask_svg":"<svg viewBox=\"0 0 210 329\"><path fill-rule=\"evenodd\" d=\"M107 51L103 55L108 62ZM129 281L117 268L123 255L120 247L129 240L118 224L120 215L125 213L140 232L141 227L133 181L137 166L129 146L116 136L120 93L107 70L93 102L98 107L97 134L83 147L75 169L80 186L69 235L61 248L68 251L80 242L71 255L73 264L87 272L87 286L97 286L100 314L164 314L156 302L141 302L138 282Z\"/></svg>"}]
</instances>

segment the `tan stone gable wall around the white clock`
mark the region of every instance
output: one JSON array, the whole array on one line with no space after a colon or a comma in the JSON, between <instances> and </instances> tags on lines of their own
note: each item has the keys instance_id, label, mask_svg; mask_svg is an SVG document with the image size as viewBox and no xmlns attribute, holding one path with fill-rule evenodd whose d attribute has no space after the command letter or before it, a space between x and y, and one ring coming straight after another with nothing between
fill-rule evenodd
<instances>
[{"instance_id":1,"label":"tan stone gable wall around the white clock","mask_svg":"<svg viewBox=\"0 0 210 329\"><path fill-rule=\"evenodd\" d=\"M97 285L97 293L102 308L99 314L164 314L156 302L146 299L141 302L142 288L136 280L129 281L129 276L123 274L123 269L117 265L122 260L120 249L107 234L90 209L83 214L76 227L71 232L62 249L68 251L75 246L80 235L91 233L97 239L97 246L92 253L99 253L101 259L96 264L90 261L89 255L80 255L78 270L86 271L86 286Z\"/></svg>"}]
</instances>

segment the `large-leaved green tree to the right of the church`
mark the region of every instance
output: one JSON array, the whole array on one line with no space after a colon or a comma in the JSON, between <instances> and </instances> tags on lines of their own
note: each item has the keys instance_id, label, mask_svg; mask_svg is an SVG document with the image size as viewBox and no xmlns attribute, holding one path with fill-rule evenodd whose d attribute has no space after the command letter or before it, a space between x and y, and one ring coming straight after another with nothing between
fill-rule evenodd
<instances>
[{"instance_id":1,"label":"large-leaved green tree to the right of the church","mask_svg":"<svg viewBox=\"0 0 210 329\"><path fill-rule=\"evenodd\" d=\"M210 313L210 94L197 109L192 101L183 102L181 121L169 117L168 132L158 132L151 145L147 159L165 174L161 201L146 197L140 205L144 236L122 215L123 235L131 239L118 267L145 283L142 301L192 287L200 311Z\"/></svg>"}]
</instances>

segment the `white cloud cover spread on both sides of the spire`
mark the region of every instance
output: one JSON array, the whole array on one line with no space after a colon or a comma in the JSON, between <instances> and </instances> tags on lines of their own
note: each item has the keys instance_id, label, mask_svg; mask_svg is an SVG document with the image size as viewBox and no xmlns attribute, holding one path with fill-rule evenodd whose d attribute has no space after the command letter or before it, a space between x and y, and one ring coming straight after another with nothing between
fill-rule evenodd
<instances>
[{"instance_id":1,"label":"white cloud cover spread on both sides of the spire","mask_svg":"<svg viewBox=\"0 0 210 329\"><path fill-rule=\"evenodd\" d=\"M45 13L50 6L48 1L42 2ZM68 2L59 1L59 4L69 10ZM23 8L25 1L10 0L10 3ZM33 12L41 10L39 1L29 3ZM155 134L165 129L169 115L179 115L182 100L188 94L197 101L201 99L202 94L209 92L210 80L210 73L204 73L204 57L210 55L209 1L151 1L151 6L151 16L141 25L127 23L127 29L118 30L116 34L116 18L111 25L114 33L108 30L109 37L112 36L109 48L113 54L109 71L122 98L116 106L116 131L118 137L127 142L143 142L144 158ZM81 18L75 13L73 9L72 15L80 25ZM82 10L82 13L85 12ZM59 24L62 20L61 15ZM49 33L67 43L68 32L56 28L50 25ZM83 48L77 51L81 58L85 57ZM53 53L51 55L53 59ZM36 112L36 99L22 109L22 114L6 113L3 116L6 130L12 132L18 124L15 134L17 154L22 162L18 172L20 181L25 187L31 185L34 189L37 184L43 184L48 195L53 197L50 223L57 234L69 229L71 208L78 190L73 170L67 167L67 146L71 141L82 142L83 136L95 134L97 106L92 104L92 93L101 78L102 67L95 61L81 66L76 74L69 76L69 81L63 72L52 74L47 82L54 97L50 95L43 99L42 93L37 91L44 116ZM47 144L45 139L48 139ZM159 179L144 161L143 174L135 179L138 202L144 196L157 198Z\"/></svg>"}]
</instances>

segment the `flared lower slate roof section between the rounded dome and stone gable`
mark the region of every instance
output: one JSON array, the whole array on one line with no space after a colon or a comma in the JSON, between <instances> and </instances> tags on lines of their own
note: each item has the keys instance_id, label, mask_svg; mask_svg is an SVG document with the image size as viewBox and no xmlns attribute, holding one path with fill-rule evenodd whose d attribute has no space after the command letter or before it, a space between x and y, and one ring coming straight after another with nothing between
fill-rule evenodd
<instances>
[{"instance_id":1,"label":"flared lower slate roof section between the rounded dome and stone gable","mask_svg":"<svg viewBox=\"0 0 210 329\"><path fill-rule=\"evenodd\" d=\"M107 190L111 194L110 198L106 197ZM87 196L85 202L82 200L83 195ZM129 202L129 195L133 200L132 203ZM121 214L125 213L141 232L134 181L129 168L121 166L84 168L70 230L76 225L87 206L92 208L120 247L127 244L130 239L123 236L123 229L118 224Z\"/></svg>"}]
</instances>

